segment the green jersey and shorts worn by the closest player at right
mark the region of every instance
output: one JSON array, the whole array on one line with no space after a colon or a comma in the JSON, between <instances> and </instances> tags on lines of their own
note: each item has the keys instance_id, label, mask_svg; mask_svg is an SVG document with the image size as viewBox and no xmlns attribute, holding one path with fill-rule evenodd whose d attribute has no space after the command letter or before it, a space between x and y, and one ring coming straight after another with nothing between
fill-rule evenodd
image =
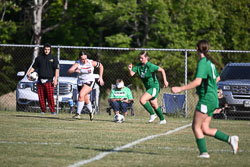
<instances>
[{"instance_id":1,"label":"green jersey and shorts worn by the closest player at right","mask_svg":"<svg viewBox=\"0 0 250 167\"><path fill-rule=\"evenodd\" d=\"M199 95L199 102L196 108L202 113L207 113L211 116L216 108L219 106L216 78L218 72L215 65L207 60L206 57L202 58L196 69L195 78L202 78L201 85L196 88Z\"/></svg>"}]
</instances>

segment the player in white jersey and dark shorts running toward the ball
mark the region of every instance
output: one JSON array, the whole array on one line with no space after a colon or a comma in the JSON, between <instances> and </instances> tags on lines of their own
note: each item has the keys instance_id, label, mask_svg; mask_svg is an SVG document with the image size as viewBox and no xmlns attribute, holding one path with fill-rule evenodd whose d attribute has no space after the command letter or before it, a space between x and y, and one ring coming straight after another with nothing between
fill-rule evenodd
<instances>
[{"instance_id":1,"label":"player in white jersey and dark shorts running toward the ball","mask_svg":"<svg viewBox=\"0 0 250 167\"><path fill-rule=\"evenodd\" d=\"M70 74L74 72L78 73L77 84L79 97L77 103L77 113L73 116L73 118L75 119L80 119L82 108L84 107L84 104L86 104L87 108L90 111L90 120L93 120L92 105L89 100L88 94L91 92L95 85L94 68L99 68L98 82L101 86L103 86L103 65L100 62L88 59L87 55L83 51L79 53L79 60L77 60L68 71Z\"/></svg>"}]
</instances>

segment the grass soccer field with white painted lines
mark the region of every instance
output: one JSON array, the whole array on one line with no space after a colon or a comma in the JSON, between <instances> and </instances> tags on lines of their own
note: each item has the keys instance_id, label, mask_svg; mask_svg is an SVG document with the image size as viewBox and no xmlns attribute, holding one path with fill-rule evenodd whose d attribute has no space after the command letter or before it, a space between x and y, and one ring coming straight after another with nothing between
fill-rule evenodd
<instances>
[{"instance_id":1,"label":"grass soccer field with white painted lines","mask_svg":"<svg viewBox=\"0 0 250 167\"><path fill-rule=\"evenodd\" d=\"M71 116L0 111L0 166L66 167L84 160L87 167L250 165L249 121L213 120L212 127L240 137L239 152L233 155L230 145L206 137L211 158L198 159L189 118L167 117L166 125L158 125L148 124L147 114L128 116L122 124L106 113L92 122L88 115Z\"/></svg>"}]
</instances>

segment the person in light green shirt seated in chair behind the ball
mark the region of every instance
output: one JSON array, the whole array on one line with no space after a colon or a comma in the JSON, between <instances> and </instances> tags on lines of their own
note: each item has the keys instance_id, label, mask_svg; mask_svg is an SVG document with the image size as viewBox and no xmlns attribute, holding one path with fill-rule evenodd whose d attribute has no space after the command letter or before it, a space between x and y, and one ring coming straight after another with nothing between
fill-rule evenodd
<instances>
[{"instance_id":1,"label":"person in light green shirt seated in chair behind the ball","mask_svg":"<svg viewBox=\"0 0 250 167\"><path fill-rule=\"evenodd\" d=\"M120 111L123 111L124 116L127 116L127 108L131 106L132 101L133 96L131 90L124 86L122 79L117 79L116 88L112 89L109 96L109 102L115 115L118 115Z\"/></svg>"}]
</instances>

